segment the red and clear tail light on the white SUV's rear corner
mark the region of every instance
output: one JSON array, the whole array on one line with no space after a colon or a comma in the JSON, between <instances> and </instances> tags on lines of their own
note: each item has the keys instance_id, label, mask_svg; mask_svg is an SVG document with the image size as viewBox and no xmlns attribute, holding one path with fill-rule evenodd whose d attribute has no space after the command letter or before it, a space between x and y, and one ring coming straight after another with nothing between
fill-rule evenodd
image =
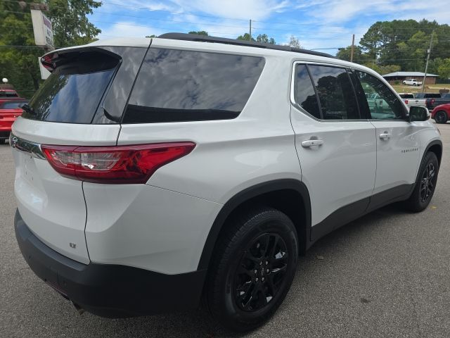
<instances>
[{"instance_id":1,"label":"red and clear tail light on the white SUV's rear corner","mask_svg":"<svg viewBox=\"0 0 450 338\"><path fill-rule=\"evenodd\" d=\"M186 156L193 142L131 146L52 146L41 149L60 175L94 183L146 183L158 168Z\"/></svg>"}]
</instances>

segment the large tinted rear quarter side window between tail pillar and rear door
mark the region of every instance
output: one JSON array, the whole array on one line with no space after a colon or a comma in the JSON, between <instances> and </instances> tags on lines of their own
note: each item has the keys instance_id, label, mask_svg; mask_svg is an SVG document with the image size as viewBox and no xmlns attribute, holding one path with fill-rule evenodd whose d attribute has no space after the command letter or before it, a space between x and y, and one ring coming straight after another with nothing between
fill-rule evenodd
<instances>
[{"instance_id":1,"label":"large tinted rear quarter side window between tail pillar and rear door","mask_svg":"<svg viewBox=\"0 0 450 338\"><path fill-rule=\"evenodd\" d=\"M236 118L264 68L264 58L150 48L123 123Z\"/></svg>"}]
</instances>

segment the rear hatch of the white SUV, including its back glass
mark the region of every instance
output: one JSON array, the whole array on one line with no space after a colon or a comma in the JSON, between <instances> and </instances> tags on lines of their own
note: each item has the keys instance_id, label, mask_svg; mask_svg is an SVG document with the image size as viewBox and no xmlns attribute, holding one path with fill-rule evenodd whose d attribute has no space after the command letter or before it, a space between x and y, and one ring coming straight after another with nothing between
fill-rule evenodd
<instances>
[{"instance_id":1,"label":"rear hatch of the white SUV, including its back glass","mask_svg":"<svg viewBox=\"0 0 450 338\"><path fill-rule=\"evenodd\" d=\"M42 242L81 263L89 263L83 183L57 173L43 149L49 145L117 144L120 124L105 105L110 96L113 113L124 106L131 90L129 78L134 80L136 75L129 58L143 58L146 51L136 49L139 51L133 47L88 46L45 56L43 64L53 72L13 124L10 141L20 215ZM141 61L138 58L136 62ZM122 83L115 84L117 79ZM113 100L120 92L117 88L125 98Z\"/></svg>"}]
</instances>

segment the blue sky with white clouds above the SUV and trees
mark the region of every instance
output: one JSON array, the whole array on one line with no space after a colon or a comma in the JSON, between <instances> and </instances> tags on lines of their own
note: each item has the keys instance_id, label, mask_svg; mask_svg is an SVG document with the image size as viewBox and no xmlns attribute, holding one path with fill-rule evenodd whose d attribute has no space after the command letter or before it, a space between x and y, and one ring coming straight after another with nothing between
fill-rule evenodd
<instances>
[{"instance_id":1,"label":"blue sky with white clouds above the SUV and trees","mask_svg":"<svg viewBox=\"0 0 450 338\"><path fill-rule=\"evenodd\" d=\"M104 0L90 15L100 39L145 37L166 32L206 30L236 38L249 31L277 44L290 36L306 49L335 54L355 43L373 23L385 20L437 20L450 23L450 0Z\"/></svg>"}]
</instances>

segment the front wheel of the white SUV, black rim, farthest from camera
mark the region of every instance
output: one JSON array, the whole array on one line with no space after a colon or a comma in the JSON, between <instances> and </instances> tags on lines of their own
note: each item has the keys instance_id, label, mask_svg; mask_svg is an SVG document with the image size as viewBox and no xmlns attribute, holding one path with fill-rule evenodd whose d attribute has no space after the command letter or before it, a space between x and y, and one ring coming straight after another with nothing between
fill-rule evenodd
<instances>
[{"instance_id":1,"label":"front wheel of the white SUV, black rim, farthest from camera","mask_svg":"<svg viewBox=\"0 0 450 338\"><path fill-rule=\"evenodd\" d=\"M428 207L433 194L435 194L438 173L439 162L437 157L435 153L429 151L420 163L413 193L404 204L407 210L418 213Z\"/></svg>"}]
</instances>

